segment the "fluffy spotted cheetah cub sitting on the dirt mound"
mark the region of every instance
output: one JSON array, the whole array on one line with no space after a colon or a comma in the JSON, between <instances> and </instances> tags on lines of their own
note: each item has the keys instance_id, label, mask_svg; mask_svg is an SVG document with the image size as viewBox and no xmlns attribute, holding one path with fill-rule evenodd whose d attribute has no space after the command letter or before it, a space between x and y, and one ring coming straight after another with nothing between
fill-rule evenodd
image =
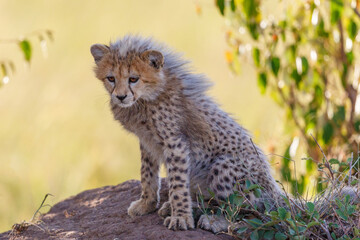
<instances>
[{"instance_id":1,"label":"fluffy spotted cheetah cub sitting on the dirt mound","mask_svg":"<svg viewBox=\"0 0 360 240\"><path fill-rule=\"evenodd\" d=\"M226 199L235 184L249 179L267 196L280 196L261 150L206 95L208 79L192 73L179 54L133 35L110 46L94 44L91 53L115 119L140 140L142 190L128 208L130 216L158 208L161 164L167 170L169 200L158 213L169 229L194 228L192 199L199 190L207 198L211 190L217 199ZM218 216L203 215L197 225L213 232L227 229L227 221Z\"/></svg>"}]
</instances>

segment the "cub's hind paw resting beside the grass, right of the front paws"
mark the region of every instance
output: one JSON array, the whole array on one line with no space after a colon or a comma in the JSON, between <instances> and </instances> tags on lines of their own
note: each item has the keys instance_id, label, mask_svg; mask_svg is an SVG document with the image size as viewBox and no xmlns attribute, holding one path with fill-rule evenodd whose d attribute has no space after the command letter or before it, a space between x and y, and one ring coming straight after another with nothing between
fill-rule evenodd
<instances>
[{"instance_id":1,"label":"cub's hind paw resting beside the grass, right of the front paws","mask_svg":"<svg viewBox=\"0 0 360 240\"><path fill-rule=\"evenodd\" d=\"M199 228L212 231L213 233L227 232L230 223L224 216L203 214L197 223Z\"/></svg>"}]
</instances>

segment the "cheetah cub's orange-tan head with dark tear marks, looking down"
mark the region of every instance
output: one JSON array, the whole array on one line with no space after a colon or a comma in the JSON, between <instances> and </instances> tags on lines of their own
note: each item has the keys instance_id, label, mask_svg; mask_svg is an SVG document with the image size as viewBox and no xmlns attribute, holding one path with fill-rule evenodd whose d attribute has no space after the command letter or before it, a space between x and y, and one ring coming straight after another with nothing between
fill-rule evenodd
<instances>
[{"instance_id":1,"label":"cheetah cub's orange-tan head with dark tear marks, looking down","mask_svg":"<svg viewBox=\"0 0 360 240\"><path fill-rule=\"evenodd\" d=\"M102 44L91 46L95 74L111 96L112 104L130 107L139 99L156 99L165 84L163 55L155 50L125 54L118 47Z\"/></svg>"}]
</instances>

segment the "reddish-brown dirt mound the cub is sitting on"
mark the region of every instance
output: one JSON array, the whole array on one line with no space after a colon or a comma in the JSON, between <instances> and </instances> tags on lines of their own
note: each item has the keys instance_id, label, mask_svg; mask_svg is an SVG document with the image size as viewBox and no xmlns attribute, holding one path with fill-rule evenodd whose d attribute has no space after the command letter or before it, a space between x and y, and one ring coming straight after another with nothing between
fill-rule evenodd
<instances>
[{"instance_id":1,"label":"reddish-brown dirt mound the cub is sitting on","mask_svg":"<svg viewBox=\"0 0 360 240\"><path fill-rule=\"evenodd\" d=\"M165 185L163 180L162 186ZM0 234L0 239L232 239L201 229L168 230L157 213L130 218L127 208L139 196L140 182L135 180L87 190L54 205L40 217L39 226L29 226L17 234L8 231ZM166 187L162 188L161 199L167 199Z\"/></svg>"}]
</instances>

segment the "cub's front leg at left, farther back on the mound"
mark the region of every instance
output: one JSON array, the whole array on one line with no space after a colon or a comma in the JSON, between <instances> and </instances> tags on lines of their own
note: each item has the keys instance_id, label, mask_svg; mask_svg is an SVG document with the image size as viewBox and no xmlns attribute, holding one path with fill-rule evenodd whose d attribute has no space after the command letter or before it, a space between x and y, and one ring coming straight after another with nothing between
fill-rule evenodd
<instances>
[{"instance_id":1,"label":"cub's front leg at left, farther back on the mound","mask_svg":"<svg viewBox=\"0 0 360 240\"><path fill-rule=\"evenodd\" d=\"M141 196L130 204L130 216L153 212L159 202L159 163L142 147L141 149Z\"/></svg>"}]
</instances>

